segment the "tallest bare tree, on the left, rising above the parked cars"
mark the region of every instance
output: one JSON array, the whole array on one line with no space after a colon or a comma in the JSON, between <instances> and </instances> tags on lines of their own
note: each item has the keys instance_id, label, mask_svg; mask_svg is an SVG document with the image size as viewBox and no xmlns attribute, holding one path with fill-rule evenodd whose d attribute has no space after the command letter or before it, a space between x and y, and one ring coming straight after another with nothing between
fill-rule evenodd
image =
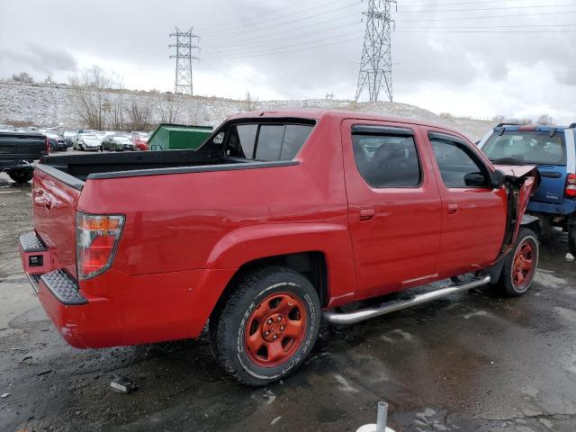
<instances>
[{"instance_id":1,"label":"tallest bare tree, on the left, rising above the parked cars","mask_svg":"<svg viewBox=\"0 0 576 432\"><path fill-rule=\"evenodd\" d=\"M86 70L83 74L68 76L68 83L74 92L74 106L80 120L89 128L103 130L105 112L111 109L108 94L109 79L98 67Z\"/></svg>"}]
</instances>

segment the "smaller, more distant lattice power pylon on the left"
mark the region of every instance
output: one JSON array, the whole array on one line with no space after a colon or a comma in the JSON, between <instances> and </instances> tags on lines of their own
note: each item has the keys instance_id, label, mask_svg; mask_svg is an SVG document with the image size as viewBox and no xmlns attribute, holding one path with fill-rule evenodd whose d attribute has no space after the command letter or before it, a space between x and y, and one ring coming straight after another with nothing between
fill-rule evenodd
<instances>
[{"instance_id":1,"label":"smaller, more distant lattice power pylon on the left","mask_svg":"<svg viewBox=\"0 0 576 432\"><path fill-rule=\"evenodd\" d=\"M175 49L175 53L170 56L176 59L174 93L193 95L192 60L200 61L200 58L194 57L192 50L200 50L200 47L193 45L192 41L200 38L193 34L192 28L189 31L180 31L178 27L175 33L170 33L170 38L175 38L176 42L168 45L168 48Z\"/></svg>"}]
</instances>

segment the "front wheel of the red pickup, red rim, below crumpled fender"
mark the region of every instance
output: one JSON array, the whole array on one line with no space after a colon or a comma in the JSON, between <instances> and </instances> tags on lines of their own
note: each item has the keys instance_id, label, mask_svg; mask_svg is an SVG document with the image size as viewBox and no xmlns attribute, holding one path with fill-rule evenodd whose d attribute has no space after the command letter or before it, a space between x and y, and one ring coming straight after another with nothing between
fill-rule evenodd
<instances>
[{"instance_id":1,"label":"front wheel of the red pickup, red rim, below crumpled fender","mask_svg":"<svg viewBox=\"0 0 576 432\"><path fill-rule=\"evenodd\" d=\"M524 253L522 252L523 248L526 249ZM516 244L506 257L500 279L494 286L507 297L519 297L527 293L536 274L538 257L539 247L536 233L532 229L520 228ZM528 262L530 263L529 269L527 269ZM520 275L522 275L521 281Z\"/></svg>"}]
</instances>

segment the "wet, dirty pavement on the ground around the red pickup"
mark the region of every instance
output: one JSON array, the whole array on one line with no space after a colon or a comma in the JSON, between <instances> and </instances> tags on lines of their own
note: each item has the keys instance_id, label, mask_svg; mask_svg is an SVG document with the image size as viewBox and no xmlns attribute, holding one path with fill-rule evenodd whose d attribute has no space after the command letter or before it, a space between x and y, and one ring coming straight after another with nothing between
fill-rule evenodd
<instances>
[{"instance_id":1,"label":"wet, dirty pavement on the ground around the red pickup","mask_svg":"<svg viewBox=\"0 0 576 432\"><path fill-rule=\"evenodd\" d=\"M559 239L522 298L476 290L324 328L297 374L253 389L216 366L205 338L67 347L17 255L30 207L30 185L0 175L1 431L356 431L381 400L396 432L576 430L576 264ZM139 389L112 392L114 374Z\"/></svg>"}]
</instances>

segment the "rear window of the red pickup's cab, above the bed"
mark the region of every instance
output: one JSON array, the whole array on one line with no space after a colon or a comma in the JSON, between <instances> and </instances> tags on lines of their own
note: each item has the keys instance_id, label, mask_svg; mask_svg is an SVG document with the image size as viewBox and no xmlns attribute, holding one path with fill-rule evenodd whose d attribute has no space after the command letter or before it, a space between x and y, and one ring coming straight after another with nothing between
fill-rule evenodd
<instances>
[{"instance_id":1,"label":"rear window of the red pickup's cab, above the bed","mask_svg":"<svg viewBox=\"0 0 576 432\"><path fill-rule=\"evenodd\" d=\"M229 129L225 154L264 162L292 160L312 129L309 124L236 124Z\"/></svg>"}]
</instances>

